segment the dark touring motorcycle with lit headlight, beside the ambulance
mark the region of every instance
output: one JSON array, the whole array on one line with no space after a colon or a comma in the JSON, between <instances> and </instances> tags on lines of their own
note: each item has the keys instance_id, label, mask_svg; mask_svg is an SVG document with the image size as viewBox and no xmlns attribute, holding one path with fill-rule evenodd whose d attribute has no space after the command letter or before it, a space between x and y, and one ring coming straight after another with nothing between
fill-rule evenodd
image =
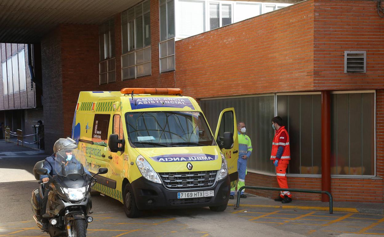
<instances>
[{"instance_id":1,"label":"dark touring motorcycle with lit headlight, beside the ambulance","mask_svg":"<svg viewBox=\"0 0 384 237\"><path fill-rule=\"evenodd\" d=\"M68 156L70 154L71 159ZM41 230L45 229L43 218L47 219L48 233L51 237L86 237L88 223L93 221L89 216L93 213L89 192L96 184L95 176L107 173L108 169L99 168L98 173L91 176L83 166L85 157L79 150L57 152L54 176L42 168L44 161L35 164L33 169L35 178L40 180L40 175L48 175L49 181L40 181L40 187L32 191L31 206L35 213L33 219ZM46 189L49 192L46 192ZM48 195L46 209L42 206L45 194Z\"/></svg>"}]
</instances>

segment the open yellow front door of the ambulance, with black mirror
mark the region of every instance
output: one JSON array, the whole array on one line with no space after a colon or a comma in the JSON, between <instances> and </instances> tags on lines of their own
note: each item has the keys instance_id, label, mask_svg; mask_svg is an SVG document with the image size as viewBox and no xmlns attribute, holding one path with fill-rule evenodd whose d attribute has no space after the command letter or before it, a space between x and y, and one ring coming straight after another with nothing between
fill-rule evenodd
<instances>
[{"instance_id":1,"label":"open yellow front door of the ambulance, with black mirror","mask_svg":"<svg viewBox=\"0 0 384 237\"><path fill-rule=\"evenodd\" d=\"M218 117L215 139L227 160L231 188L235 187L238 178L237 158L239 143L234 108L227 108L221 111L220 116Z\"/></svg>"}]
</instances>

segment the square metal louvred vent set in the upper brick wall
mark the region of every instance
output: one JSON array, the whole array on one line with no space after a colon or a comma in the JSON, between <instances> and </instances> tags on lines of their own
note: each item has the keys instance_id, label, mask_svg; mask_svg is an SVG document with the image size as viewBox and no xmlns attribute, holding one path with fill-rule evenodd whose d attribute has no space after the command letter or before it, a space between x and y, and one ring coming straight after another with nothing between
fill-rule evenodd
<instances>
[{"instance_id":1,"label":"square metal louvred vent set in the upper brick wall","mask_svg":"<svg viewBox=\"0 0 384 237\"><path fill-rule=\"evenodd\" d=\"M366 58L366 51L344 51L344 73L365 73Z\"/></svg>"}]
</instances>

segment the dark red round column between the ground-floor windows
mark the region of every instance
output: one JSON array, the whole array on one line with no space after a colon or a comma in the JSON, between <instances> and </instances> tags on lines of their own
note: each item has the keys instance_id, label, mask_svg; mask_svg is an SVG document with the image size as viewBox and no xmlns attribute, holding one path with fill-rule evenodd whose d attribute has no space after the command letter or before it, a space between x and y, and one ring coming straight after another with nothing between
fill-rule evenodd
<instances>
[{"instance_id":1,"label":"dark red round column between the ground-floor windows","mask_svg":"<svg viewBox=\"0 0 384 237\"><path fill-rule=\"evenodd\" d=\"M321 91L321 190L331 192L331 94ZM322 202L329 202L321 194Z\"/></svg>"}]
</instances>

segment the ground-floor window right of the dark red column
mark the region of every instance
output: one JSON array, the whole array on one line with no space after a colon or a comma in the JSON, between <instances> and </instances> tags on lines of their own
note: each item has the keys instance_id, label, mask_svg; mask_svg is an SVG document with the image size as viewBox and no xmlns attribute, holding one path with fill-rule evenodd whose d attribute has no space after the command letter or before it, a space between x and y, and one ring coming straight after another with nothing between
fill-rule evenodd
<instances>
[{"instance_id":1,"label":"ground-floor window right of the dark red column","mask_svg":"<svg viewBox=\"0 0 384 237\"><path fill-rule=\"evenodd\" d=\"M331 174L375 175L375 94L331 94Z\"/></svg>"}]
</instances>

